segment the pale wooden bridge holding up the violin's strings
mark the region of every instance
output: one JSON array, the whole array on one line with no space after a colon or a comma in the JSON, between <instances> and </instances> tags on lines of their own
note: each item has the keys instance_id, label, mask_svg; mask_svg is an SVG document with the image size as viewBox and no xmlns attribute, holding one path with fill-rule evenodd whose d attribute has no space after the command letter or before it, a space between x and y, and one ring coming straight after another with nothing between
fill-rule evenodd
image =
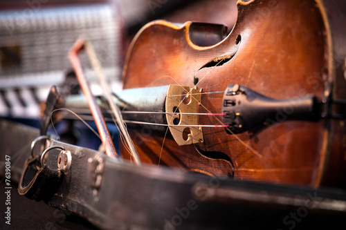
<instances>
[{"instance_id":1,"label":"pale wooden bridge holding up the violin's strings","mask_svg":"<svg viewBox=\"0 0 346 230\"><path fill-rule=\"evenodd\" d=\"M167 124L179 146L203 142L202 127L198 126L197 107L201 103L198 87L170 85L167 90L165 112Z\"/></svg>"}]
</instances>

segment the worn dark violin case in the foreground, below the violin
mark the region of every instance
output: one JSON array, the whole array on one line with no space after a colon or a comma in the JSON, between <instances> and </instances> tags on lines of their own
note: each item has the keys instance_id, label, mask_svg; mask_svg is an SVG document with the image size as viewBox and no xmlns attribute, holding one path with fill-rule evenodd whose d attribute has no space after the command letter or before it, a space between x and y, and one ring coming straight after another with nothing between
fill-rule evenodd
<instances>
[{"instance_id":1,"label":"worn dark violin case in the foreground, below the violin","mask_svg":"<svg viewBox=\"0 0 346 230\"><path fill-rule=\"evenodd\" d=\"M8 120L1 120L0 131L6 133L0 140L1 159L11 156L11 193L17 193L15 184L39 131ZM346 216L345 189L218 180L153 165L119 163L89 148L52 140L51 146L55 145L71 151L71 168L55 180L55 191L42 183L30 198L92 226L78 218L64 222L63 213L50 210L37 211L41 215L36 219L12 213L11 227L33 222L42 226L37 221L41 218L58 229L310 229L330 223L338 226ZM48 154L49 171L57 171L59 154L59 149ZM102 167L96 169L95 160ZM96 177L100 184L95 183ZM13 202L11 209L24 206L30 213L35 206L42 207L42 201L23 201L18 207Z\"/></svg>"}]
</instances>

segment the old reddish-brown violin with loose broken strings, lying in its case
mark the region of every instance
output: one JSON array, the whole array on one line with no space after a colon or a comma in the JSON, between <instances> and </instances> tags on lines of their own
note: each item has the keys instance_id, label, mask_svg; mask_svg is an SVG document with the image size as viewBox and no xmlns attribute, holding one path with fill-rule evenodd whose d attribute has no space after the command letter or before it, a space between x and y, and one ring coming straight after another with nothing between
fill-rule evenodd
<instances>
[{"instance_id":1,"label":"old reddish-brown violin with loose broken strings, lying in its case","mask_svg":"<svg viewBox=\"0 0 346 230\"><path fill-rule=\"evenodd\" d=\"M229 34L159 20L134 37L115 100L140 161L345 187L346 3L253 0L237 9Z\"/></svg>"}]
</instances>

